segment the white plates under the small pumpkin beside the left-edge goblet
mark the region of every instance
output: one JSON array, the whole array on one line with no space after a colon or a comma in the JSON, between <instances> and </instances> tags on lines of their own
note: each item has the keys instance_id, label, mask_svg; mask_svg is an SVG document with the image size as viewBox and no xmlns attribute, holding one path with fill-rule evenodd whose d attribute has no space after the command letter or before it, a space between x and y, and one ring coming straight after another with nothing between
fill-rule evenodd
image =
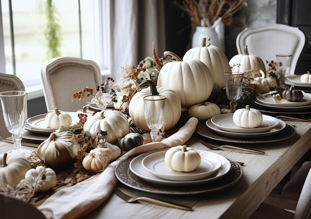
<instances>
[{"instance_id":1,"label":"white plates under the small pumpkin beside the left-edge goblet","mask_svg":"<svg viewBox=\"0 0 311 219\"><path fill-rule=\"evenodd\" d=\"M78 112L66 112L68 113L72 118L72 124L70 128L73 132L80 132L82 130L82 127L78 125L79 122L78 118ZM56 129L48 128L47 123L45 121L45 116L47 114L40 114L37 116L30 117L27 119L26 127L25 129L31 133L39 134L39 135L50 135L52 132L55 132Z\"/></svg>"}]
</instances>

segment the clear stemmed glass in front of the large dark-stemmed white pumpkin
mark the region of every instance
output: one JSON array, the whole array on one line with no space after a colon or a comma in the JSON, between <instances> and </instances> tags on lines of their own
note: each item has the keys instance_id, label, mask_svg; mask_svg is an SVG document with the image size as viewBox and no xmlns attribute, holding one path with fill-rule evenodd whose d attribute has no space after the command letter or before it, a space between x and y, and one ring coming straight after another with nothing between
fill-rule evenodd
<instances>
[{"instance_id":1,"label":"clear stemmed glass in front of the large dark-stemmed white pumpkin","mask_svg":"<svg viewBox=\"0 0 311 219\"><path fill-rule=\"evenodd\" d=\"M157 132L163 125L165 99L161 95L144 97L145 119L153 142L156 142Z\"/></svg>"}]
</instances>

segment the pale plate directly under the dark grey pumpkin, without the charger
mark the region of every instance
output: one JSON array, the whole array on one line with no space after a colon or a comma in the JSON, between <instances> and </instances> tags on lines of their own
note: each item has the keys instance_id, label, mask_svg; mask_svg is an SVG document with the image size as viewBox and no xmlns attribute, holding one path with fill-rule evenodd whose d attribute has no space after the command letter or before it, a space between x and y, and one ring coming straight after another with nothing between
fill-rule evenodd
<instances>
[{"instance_id":1,"label":"pale plate directly under the dark grey pumpkin, without the charger","mask_svg":"<svg viewBox=\"0 0 311 219\"><path fill-rule=\"evenodd\" d=\"M286 101L284 103L275 102L273 96L270 93L262 94L256 97L259 103L268 106L278 107L298 107L298 106L310 106L311 105L311 93L305 93L304 97L298 102Z\"/></svg>"}]
</instances>

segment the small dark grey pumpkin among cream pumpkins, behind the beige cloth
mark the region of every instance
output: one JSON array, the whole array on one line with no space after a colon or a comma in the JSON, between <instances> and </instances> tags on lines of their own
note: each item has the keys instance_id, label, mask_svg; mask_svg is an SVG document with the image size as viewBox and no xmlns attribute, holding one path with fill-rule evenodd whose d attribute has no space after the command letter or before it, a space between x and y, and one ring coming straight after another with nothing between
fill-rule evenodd
<instances>
[{"instance_id":1,"label":"small dark grey pumpkin among cream pumpkins, behind the beige cloth","mask_svg":"<svg viewBox=\"0 0 311 219\"><path fill-rule=\"evenodd\" d=\"M123 138L120 138L117 146L120 147L121 150L129 151L134 147L141 146L144 144L144 138L141 134L138 133L129 133Z\"/></svg>"}]
</instances>

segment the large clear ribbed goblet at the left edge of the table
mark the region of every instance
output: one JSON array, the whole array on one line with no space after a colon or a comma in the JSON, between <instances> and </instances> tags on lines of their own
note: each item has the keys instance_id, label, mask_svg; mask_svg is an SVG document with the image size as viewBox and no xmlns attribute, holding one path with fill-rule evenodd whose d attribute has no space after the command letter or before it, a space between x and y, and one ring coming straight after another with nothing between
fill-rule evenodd
<instances>
[{"instance_id":1,"label":"large clear ribbed goblet at the left edge of the table","mask_svg":"<svg viewBox=\"0 0 311 219\"><path fill-rule=\"evenodd\" d=\"M25 157L31 153L30 150L21 148L22 131L27 120L27 92L26 91L5 91L0 93L4 124L12 134L14 149L10 152L17 152Z\"/></svg>"}]
</instances>

